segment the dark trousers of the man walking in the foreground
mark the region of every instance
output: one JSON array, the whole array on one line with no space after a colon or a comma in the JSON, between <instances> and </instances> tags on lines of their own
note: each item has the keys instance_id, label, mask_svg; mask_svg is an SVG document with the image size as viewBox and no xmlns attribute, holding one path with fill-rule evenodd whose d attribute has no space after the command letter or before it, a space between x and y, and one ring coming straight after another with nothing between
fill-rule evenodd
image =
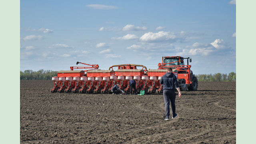
<instances>
[{"instance_id":1,"label":"dark trousers of the man walking in the foreground","mask_svg":"<svg viewBox=\"0 0 256 144\"><path fill-rule=\"evenodd\" d=\"M176 107L175 107L175 98L176 98L176 93L174 90L164 90L163 91L164 95L164 104L165 104L165 113L166 116L170 116L170 102L171 102L171 107L172 107L172 116L174 116Z\"/></svg>"}]
</instances>

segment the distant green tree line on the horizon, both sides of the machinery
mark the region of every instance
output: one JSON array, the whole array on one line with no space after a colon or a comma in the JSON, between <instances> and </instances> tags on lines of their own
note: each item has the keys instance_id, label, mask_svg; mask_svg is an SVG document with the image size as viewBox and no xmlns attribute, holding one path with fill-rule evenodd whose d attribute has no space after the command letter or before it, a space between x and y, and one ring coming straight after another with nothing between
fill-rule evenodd
<instances>
[{"instance_id":1,"label":"distant green tree line on the horizon, both sides of the machinery","mask_svg":"<svg viewBox=\"0 0 256 144\"><path fill-rule=\"evenodd\" d=\"M25 70L20 71L20 80L52 80L53 76L57 76L57 71L52 70ZM198 81L201 82L235 82L236 73L229 74L198 74L196 75Z\"/></svg>"}]
</instances>

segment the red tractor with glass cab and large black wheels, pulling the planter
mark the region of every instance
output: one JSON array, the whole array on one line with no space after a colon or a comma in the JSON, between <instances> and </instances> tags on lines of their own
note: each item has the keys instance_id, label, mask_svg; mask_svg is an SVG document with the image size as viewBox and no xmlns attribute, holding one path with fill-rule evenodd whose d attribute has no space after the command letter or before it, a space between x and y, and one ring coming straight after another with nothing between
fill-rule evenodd
<instances>
[{"instance_id":1,"label":"red tractor with glass cab and large black wheels, pulling the planter","mask_svg":"<svg viewBox=\"0 0 256 144\"><path fill-rule=\"evenodd\" d=\"M184 60L187 59L187 65L184 64ZM172 72L177 76L180 90L197 90L198 80L190 70L192 62L190 57L184 58L181 56L163 56L162 63L158 64L158 70L172 68Z\"/></svg>"}]
</instances>

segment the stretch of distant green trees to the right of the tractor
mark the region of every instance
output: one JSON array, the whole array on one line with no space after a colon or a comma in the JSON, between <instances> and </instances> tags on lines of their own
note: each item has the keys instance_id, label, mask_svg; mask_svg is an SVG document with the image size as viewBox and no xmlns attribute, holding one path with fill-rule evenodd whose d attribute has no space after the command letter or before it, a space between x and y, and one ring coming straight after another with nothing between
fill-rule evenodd
<instances>
[{"instance_id":1,"label":"stretch of distant green trees to the right of the tractor","mask_svg":"<svg viewBox=\"0 0 256 144\"><path fill-rule=\"evenodd\" d=\"M197 74L198 81L200 82L235 82L236 73L230 72L229 74Z\"/></svg>"}]
</instances>

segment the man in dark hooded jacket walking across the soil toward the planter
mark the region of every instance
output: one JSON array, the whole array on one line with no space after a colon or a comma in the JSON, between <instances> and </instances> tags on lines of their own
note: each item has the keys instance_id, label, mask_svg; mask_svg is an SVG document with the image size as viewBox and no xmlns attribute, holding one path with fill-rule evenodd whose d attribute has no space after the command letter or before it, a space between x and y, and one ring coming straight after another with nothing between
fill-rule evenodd
<instances>
[{"instance_id":1,"label":"man in dark hooded jacket walking across the soil toward the planter","mask_svg":"<svg viewBox=\"0 0 256 144\"><path fill-rule=\"evenodd\" d=\"M177 114L175 113L175 88L179 92L179 98L181 96L180 87L178 85L177 77L172 73L172 68L167 68L166 74L164 74L160 80L160 84L164 84L163 95L164 95L164 104L165 104L165 113L166 118L164 120L169 120L170 116L170 102L172 107L172 118L176 118Z\"/></svg>"}]
</instances>

